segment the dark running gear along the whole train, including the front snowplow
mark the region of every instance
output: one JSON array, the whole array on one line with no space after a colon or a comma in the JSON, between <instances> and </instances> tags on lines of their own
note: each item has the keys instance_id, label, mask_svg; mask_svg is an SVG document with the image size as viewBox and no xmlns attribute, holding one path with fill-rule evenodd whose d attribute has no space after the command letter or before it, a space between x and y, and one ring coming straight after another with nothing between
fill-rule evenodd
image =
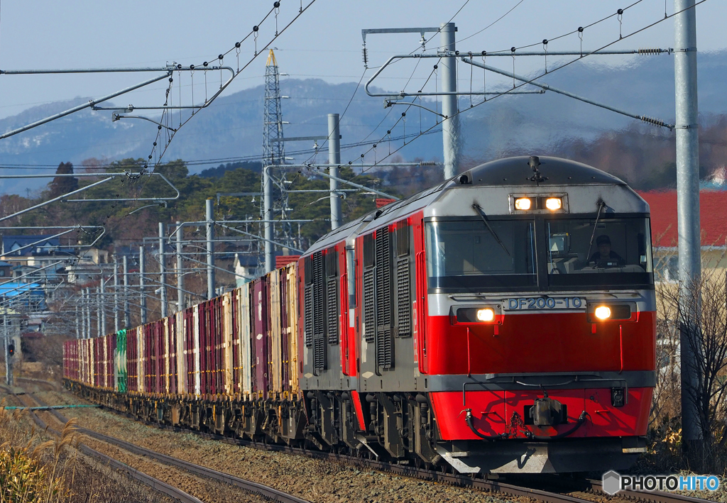
<instances>
[{"instance_id":1,"label":"dark running gear along the whole train, including the front snowplow","mask_svg":"<svg viewBox=\"0 0 727 503\"><path fill-rule=\"evenodd\" d=\"M230 438L316 448L414 466L451 465L462 473L582 472L603 464L629 467L646 445L641 437L533 440L458 440L439 437L422 393L369 393L358 424L348 393L313 390L304 396L231 398L119 393L70 379L81 398L145 422ZM593 453L598 453L594 456Z\"/></svg>"}]
</instances>

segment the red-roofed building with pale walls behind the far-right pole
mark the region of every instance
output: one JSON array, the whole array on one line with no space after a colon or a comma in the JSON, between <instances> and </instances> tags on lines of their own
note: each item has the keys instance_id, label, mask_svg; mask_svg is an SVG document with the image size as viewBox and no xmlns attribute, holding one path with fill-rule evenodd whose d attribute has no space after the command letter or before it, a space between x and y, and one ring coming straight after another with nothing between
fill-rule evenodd
<instances>
[{"instance_id":1,"label":"red-roofed building with pale walls behind the far-right pole","mask_svg":"<svg viewBox=\"0 0 727 503\"><path fill-rule=\"evenodd\" d=\"M678 278L678 220L676 190L642 192L651 209L651 241L657 281ZM702 268L727 273L727 190L701 190Z\"/></svg>"}]
</instances>

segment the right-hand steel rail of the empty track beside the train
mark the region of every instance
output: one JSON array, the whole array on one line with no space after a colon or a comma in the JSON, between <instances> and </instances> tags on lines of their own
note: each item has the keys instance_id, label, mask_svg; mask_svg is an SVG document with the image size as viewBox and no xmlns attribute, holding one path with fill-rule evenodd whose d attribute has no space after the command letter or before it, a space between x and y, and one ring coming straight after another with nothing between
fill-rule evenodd
<instances>
[{"instance_id":1,"label":"right-hand steel rail of the empty track beside the train","mask_svg":"<svg viewBox=\"0 0 727 503\"><path fill-rule=\"evenodd\" d=\"M46 406L40 398L36 396L33 396L32 398L41 406ZM58 412L57 410L49 409L49 412L53 414L60 422L68 422L68 419L66 419L63 414L60 414L60 412ZM212 470L212 468L207 468L199 464L190 463L183 459L167 456L166 454L161 454L160 452L137 446L133 443L126 442L125 440L121 440L119 438L111 437L109 435L103 435L103 433L88 430L87 428L79 428L78 431L81 432L83 435L88 435L89 437L95 438L96 440L101 440L102 442L110 443L114 446L126 449L126 451L137 454L138 456L146 456L151 459L156 459L158 462L169 464L173 467L183 468L184 470L187 470L188 472L199 475L201 477L210 478L212 480L217 480L218 482L222 483L228 483L231 486L236 486L238 488L244 489L244 491L248 491L254 494L260 494L266 499L272 499L273 501L283 503L310 503L307 499L298 498L297 496L293 496L292 494L278 491L278 489L272 488L270 486L255 483L252 482L252 480L239 478L228 473Z\"/></svg>"}]
</instances>

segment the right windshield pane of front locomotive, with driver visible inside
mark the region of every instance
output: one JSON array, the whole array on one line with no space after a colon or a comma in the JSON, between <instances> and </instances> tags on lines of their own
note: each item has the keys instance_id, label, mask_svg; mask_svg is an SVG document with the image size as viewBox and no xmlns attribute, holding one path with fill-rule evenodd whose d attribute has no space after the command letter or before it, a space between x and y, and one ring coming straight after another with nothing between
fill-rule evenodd
<instances>
[{"instance_id":1,"label":"right windshield pane of front locomotive, with driver visible inside","mask_svg":"<svg viewBox=\"0 0 727 503\"><path fill-rule=\"evenodd\" d=\"M553 219L545 230L550 286L653 282L646 218Z\"/></svg>"}]
</instances>

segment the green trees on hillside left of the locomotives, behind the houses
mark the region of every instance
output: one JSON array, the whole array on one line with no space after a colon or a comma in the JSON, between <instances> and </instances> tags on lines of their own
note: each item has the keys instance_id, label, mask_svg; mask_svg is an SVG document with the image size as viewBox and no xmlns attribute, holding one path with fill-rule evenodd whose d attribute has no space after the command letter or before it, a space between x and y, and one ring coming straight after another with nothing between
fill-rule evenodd
<instances>
[{"instance_id":1,"label":"green trees on hillside left of the locomotives, behind the houses","mask_svg":"<svg viewBox=\"0 0 727 503\"><path fill-rule=\"evenodd\" d=\"M81 172L127 172L129 176L118 177L111 182L105 182L94 188L89 188L73 198L78 199L110 199L111 201L89 202L56 202L43 206L33 212L14 217L6 221L6 225L42 226L42 225L103 225L106 234L97 246L113 248L115 244L129 244L140 241L144 236L156 236L158 222L172 223L174 221L204 220L204 206L206 198L215 198L215 220L246 220L260 218L260 197L254 196L220 196L218 193L260 193L260 167L257 172L252 169L236 167L235 165L219 166L208 170L206 176L190 175L185 162L182 160L170 161L156 167L156 172L164 174L174 187L180 191L180 197L174 201L164 201L165 204L155 204L154 201L113 201L113 198L155 198L174 196L174 190L167 185L161 177L136 177L142 160L124 159L111 164L87 162ZM61 163L57 174L73 174L71 163ZM76 172L78 173L78 172ZM353 178L353 170L341 169L341 176L346 179ZM50 198L61 196L78 188L91 185L103 179L98 177L55 177L47 188L36 195L18 196L4 194L0 196L0 214L8 215L22 209L47 201ZM312 173L289 172L287 174L289 188L293 190L324 189L329 188L329 181L323 177L316 177ZM379 180L372 175L356 177L360 184L374 186ZM274 197L278 197L276 191ZM323 193L292 193L289 196L289 206L293 209L295 219L316 220L302 226L301 236L308 244L326 233L330 223L330 206L327 198L321 198ZM356 218L375 208L374 196L371 194L347 193L342 201L342 212L345 220ZM18 231L22 233L23 231ZM31 231L28 231L31 232ZM36 231L37 232L37 231ZM83 236L79 233L81 241L88 241L92 236Z\"/></svg>"}]
</instances>

